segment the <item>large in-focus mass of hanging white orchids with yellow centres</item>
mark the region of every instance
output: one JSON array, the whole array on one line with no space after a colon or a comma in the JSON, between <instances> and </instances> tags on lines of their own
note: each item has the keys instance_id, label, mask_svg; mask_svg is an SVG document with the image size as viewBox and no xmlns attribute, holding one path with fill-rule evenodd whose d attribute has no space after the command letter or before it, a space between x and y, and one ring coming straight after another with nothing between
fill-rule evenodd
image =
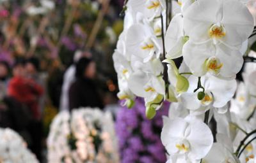
<instances>
[{"instance_id":1,"label":"large in-focus mass of hanging white orchids with yellow centres","mask_svg":"<svg viewBox=\"0 0 256 163\"><path fill-rule=\"evenodd\" d=\"M256 161L255 74L236 81L244 61L256 61L246 53L256 35L247 2L125 1L113 54L118 97L128 108L143 97L149 119L172 102L161 132L169 163Z\"/></svg>"}]
</instances>

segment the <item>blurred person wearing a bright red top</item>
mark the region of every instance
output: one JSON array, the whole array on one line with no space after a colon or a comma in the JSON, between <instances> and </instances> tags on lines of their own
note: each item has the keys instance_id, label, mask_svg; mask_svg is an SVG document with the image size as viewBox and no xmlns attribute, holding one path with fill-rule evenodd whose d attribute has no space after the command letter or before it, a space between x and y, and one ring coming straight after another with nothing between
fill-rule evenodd
<instances>
[{"instance_id":1,"label":"blurred person wearing a bright red top","mask_svg":"<svg viewBox=\"0 0 256 163\"><path fill-rule=\"evenodd\" d=\"M8 96L24 104L31 113L31 122L29 122L28 132L31 136L31 146L38 160L41 160L42 150L42 124L41 112L38 106L40 97L44 93L41 85L35 80L27 77L24 59L17 60L13 65L13 78L8 85Z\"/></svg>"}]
</instances>

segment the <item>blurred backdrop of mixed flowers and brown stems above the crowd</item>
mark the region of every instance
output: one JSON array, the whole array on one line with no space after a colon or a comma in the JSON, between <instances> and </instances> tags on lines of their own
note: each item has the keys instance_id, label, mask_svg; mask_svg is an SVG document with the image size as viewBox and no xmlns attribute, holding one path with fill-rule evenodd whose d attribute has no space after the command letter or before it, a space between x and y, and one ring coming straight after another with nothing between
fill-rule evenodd
<instances>
[{"instance_id":1,"label":"blurred backdrop of mixed flowers and brown stems above the crowd","mask_svg":"<svg viewBox=\"0 0 256 163\"><path fill-rule=\"evenodd\" d=\"M122 23L119 23L122 20L109 13L108 9L113 8L109 3L0 1L0 59L12 63L15 57L36 55L70 64L76 50L106 53L98 56L98 60L108 57L122 30ZM106 15L106 18L99 15Z\"/></svg>"}]
</instances>

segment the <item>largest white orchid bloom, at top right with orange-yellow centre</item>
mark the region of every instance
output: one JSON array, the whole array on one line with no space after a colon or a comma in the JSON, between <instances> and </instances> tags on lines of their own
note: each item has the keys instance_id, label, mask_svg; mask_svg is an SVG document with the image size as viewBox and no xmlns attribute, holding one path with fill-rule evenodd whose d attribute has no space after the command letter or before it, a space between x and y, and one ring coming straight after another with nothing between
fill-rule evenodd
<instances>
[{"instance_id":1,"label":"largest white orchid bloom, at top right with orange-yellow centre","mask_svg":"<svg viewBox=\"0 0 256 163\"><path fill-rule=\"evenodd\" d=\"M230 7L232 6L232 7ZM253 17L237 0L198 0L184 13L184 29L195 43L241 46L253 31Z\"/></svg>"}]
</instances>

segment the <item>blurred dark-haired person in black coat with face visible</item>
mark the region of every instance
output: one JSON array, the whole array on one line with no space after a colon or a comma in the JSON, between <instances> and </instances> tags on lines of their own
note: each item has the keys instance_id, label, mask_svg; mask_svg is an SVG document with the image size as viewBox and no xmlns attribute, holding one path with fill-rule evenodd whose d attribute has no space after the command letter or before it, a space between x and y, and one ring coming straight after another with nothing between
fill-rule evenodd
<instances>
[{"instance_id":1,"label":"blurred dark-haired person in black coat with face visible","mask_svg":"<svg viewBox=\"0 0 256 163\"><path fill-rule=\"evenodd\" d=\"M96 65L92 59L81 58L76 64L76 80L69 89L70 111L80 107L104 108L97 85Z\"/></svg>"}]
</instances>

